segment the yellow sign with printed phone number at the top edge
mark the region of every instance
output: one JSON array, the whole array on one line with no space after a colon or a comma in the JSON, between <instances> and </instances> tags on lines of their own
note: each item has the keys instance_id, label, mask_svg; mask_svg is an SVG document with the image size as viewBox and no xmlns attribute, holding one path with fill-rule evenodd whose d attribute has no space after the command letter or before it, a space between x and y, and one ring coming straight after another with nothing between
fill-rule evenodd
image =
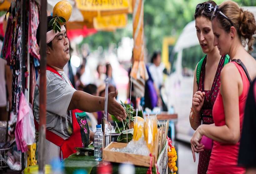
<instances>
[{"instance_id":1,"label":"yellow sign with printed phone number at the top edge","mask_svg":"<svg viewBox=\"0 0 256 174\"><path fill-rule=\"evenodd\" d=\"M76 7L85 11L129 9L129 0L76 0Z\"/></svg>"}]
</instances>

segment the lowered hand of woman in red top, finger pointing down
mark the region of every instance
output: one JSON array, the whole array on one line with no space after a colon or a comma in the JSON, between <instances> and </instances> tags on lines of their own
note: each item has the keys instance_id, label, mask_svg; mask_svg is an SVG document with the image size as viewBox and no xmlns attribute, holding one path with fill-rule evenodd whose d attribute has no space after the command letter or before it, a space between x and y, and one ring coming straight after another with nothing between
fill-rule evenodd
<instances>
[{"instance_id":1,"label":"lowered hand of woman in red top, finger pointing down","mask_svg":"<svg viewBox=\"0 0 256 174\"><path fill-rule=\"evenodd\" d=\"M194 158L194 162L195 162L195 152L199 153L204 151L204 145L202 143L199 143L201 138L202 138L202 134L200 134L199 129L201 126L199 126L197 128L197 130L194 132L194 135L192 136L191 140L190 140L190 144L191 144L191 150L192 150L192 155Z\"/></svg>"}]
</instances>

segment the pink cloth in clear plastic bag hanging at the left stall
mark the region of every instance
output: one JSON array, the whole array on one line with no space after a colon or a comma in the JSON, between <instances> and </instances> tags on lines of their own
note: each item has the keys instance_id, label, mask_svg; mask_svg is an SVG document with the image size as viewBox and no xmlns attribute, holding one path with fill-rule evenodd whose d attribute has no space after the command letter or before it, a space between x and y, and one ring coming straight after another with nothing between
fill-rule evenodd
<instances>
[{"instance_id":1,"label":"pink cloth in clear plastic bag hanging at the left stall","mask_svg":"<svg viewBox=\"0 0 256 174\"><path fill-rule=\"evenodd\" d=\"M23 119L28 115L28 113L29 113L28 103L26 101L24 94L21 93L19 112L18 112L16 127L15 127L15 138L16 138L17 149L21 150L22 152L26 152L28 150L27 143L23 139L23 124L26 124L26 123L23 123Z\"/></svg>"}]
</instances>

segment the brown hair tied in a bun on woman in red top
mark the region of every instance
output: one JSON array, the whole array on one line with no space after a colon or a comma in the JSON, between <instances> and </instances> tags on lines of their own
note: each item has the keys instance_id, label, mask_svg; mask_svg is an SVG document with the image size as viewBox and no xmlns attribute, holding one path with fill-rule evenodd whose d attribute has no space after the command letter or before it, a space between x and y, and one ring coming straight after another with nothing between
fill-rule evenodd
<instances>
[{"instance_id":1,"label":"brown hair tied in a bun on woman in red top","mask_svg":"<svg viewBox=\"0 0 256 174\"><path fill-rule=\"evenodd\" d=\"M233 22L244 47L245 43L247 43L249 52L252 51L252 45L254 43L253 35L256 33L256 24L253 13L244 11L236 2L233 1L226 1L220 4L219 11L224 13L224 15ZM213 16L212 20L215 17L219 21L221 27L229 33L232 26L231 23L222 15Z\"/></svg>"}]
</instances>

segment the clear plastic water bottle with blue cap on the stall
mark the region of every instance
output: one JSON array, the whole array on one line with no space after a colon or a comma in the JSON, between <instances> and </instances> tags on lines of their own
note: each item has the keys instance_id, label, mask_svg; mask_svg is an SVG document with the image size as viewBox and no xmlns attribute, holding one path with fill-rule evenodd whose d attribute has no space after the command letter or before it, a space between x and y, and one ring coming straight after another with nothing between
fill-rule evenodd
<instances>
[{"instance_id":1,"label":"clear plastic water bottle with blue cap on the stall","mask_svg":"<svg viewBox=\"0 0 256 174\"><path fill-rule=\"evenodd\" d=\"M103 132L101 125L96 126L97 130L94 134L94 158L96 161L102 160Z\"/></svg>"}]
</instances>

